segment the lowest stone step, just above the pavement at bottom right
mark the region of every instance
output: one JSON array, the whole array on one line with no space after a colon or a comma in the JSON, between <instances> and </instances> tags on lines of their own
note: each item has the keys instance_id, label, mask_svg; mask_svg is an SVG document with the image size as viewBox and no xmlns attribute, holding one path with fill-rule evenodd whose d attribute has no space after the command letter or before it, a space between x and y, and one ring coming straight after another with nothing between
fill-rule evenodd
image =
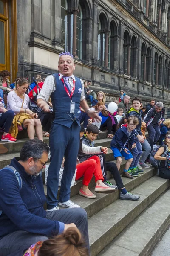
<instances>
[{"instance_id":1,"label":"lowest stone step, just above the pavement at bottom right","mask_svg":"<svg viewBox=\"0 0 170 256\"><path fill-rule=\"evenodd\" d=\"M153 204L148 204L149 207L102 250L99 256L149 256L170 225L170 205L167 204L169 198L170 190Z\"/></svg>"}]
</instances>

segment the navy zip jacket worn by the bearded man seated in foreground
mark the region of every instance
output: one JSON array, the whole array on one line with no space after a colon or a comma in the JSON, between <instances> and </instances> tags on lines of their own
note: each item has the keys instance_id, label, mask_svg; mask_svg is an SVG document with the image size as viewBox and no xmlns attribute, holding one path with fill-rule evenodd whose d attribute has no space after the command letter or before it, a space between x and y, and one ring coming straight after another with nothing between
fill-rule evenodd
<instances>
[{"instance_id":1,"label":"navy zip jacket worn by the bearded man seated in foreground","mask_svg":"<svg viewBox=\"0 0 170 256\"><path fill-rule=\"evenodd\" d=\"M46 219L44 203L46 201L42 177L28 175L18 162L11 160L10 165L19 173L23 186L13 172L3 168L0 170L0 239L14 231L23 230L43 236L54 236L64 230L64 223Z\"/></svg>"}]
</instances>

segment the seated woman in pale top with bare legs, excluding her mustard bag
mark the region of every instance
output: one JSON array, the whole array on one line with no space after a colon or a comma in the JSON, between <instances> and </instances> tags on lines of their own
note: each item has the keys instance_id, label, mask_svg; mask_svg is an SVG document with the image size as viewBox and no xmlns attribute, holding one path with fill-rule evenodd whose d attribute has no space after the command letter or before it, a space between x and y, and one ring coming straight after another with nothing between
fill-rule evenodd
<instances>
[{"instance_id":1,"label":"seated woman in pale top with bare legs, excluding her mustard bag","mask_svg":"<svg viewBox=\"0 0 170 256\"><path fill-rule=\"evenodd\" d=\"M28 80L20 77L16 79L15 91L8 93L8 110L14 111L14 115L18 113L27 113L31 119L25 119L22 127L27 128L29 139L34 139L35 131L39 140L43 140L42 125L40 119L37 119L37 113L33 113L29 108L29 97L26 93L28 89ZM24 97L25 96L25 97ZM24 98L24 102L23 102ZM22 107L23 103L23 107ZM22 108L21 108L22 107Z\"/></svg>"}]
</instances>

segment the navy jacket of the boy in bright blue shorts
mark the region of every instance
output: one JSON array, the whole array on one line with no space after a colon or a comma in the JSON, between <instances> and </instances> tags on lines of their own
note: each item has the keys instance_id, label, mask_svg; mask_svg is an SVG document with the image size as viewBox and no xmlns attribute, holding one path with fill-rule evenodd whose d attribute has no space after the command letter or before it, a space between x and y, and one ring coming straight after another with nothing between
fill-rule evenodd
<instances>
[{"instance_id":1,"label":"navy jacket of the boy in bright blue shorts","mask_svg":"<svg viewBox=\"0 0 170 256\"><path fill-rule=\"evenodd\" d=\"M121 127L116 131L112 141L111 147L118 148L119 151L122 151L127 148L131 148L133 143L135 143L135 136L138 135L138 132L134 129L128 138L127 133L127 124L121 125Z\"/></svg>"}]
</instances>

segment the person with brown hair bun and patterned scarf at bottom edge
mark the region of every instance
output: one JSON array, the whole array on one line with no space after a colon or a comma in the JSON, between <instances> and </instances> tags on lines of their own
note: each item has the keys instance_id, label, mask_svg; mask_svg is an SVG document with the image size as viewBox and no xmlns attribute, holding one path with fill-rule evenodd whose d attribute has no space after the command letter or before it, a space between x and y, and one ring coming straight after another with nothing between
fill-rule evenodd
<instances>
[{"instance_id":1,"label":"person with brown hair bun and patterned scarf at bottom edge","mask_svg":"<svg viewBox=\"0 0 170 256\"><path fill-rule=\"evenodd\" d=\"M51 239L31 245L24 256L89 256L88 248L76 227Z\"/></svg>"}]
</instances>

